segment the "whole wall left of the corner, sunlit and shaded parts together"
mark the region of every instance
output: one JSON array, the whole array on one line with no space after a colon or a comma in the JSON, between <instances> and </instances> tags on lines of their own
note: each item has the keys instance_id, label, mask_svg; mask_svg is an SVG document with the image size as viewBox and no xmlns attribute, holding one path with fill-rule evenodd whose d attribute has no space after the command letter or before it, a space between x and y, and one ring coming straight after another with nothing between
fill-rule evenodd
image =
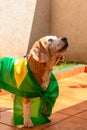
<instances>
[{"instance_id":1,"label":"whole wall left of the corner, sunlit and shaded parts together","mask_svg":"<svg viewBox=\"0 0 87 130\"><path fill-rule=\"evenodd\" d=\"M0 0L0 56L24 55L49 34L50 0Z\"/></svg>"}]
</instances>

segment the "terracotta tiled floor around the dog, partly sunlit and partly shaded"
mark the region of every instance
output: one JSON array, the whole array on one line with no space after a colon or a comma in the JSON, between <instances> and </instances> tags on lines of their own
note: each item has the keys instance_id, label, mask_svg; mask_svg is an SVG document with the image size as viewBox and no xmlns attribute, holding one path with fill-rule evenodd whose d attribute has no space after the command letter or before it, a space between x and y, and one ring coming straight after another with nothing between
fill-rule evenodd
<instances>
[{"instance_id":1,"label":"terracotta tiled floor around the dog, partly sunlit and partly shaded","mask_svg":"<svg viewBox=\"0 0 87 130\"><path fill-rule=\"evenodd\" d=\"M51 123L31 130L87 130L87 73L59 80L60 94L50 117ZM0 130L27 130L12 123L13 102L9 93L0 93Z\"/></svg>"}]
</instances>

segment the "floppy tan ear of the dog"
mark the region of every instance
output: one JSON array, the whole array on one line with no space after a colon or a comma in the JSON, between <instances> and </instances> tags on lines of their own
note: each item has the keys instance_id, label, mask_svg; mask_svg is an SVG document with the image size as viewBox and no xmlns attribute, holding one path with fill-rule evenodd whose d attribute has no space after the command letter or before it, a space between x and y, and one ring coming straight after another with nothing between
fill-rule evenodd
<instances>
[{"instance_id":1,"label":"floppy tan ear of the dog","mask_svg":"<svg viewBox=\"0 0 87 130\"><path fill-rule=\"evenodd\" d=\"M33 56L33 58L42 63L46 63L49 58L49 50L47 47L45 47L43 44L44 41L36 41L35 44L33 45L32 49L30 50L30 54Z\"/></svg>"}]
</instances>

